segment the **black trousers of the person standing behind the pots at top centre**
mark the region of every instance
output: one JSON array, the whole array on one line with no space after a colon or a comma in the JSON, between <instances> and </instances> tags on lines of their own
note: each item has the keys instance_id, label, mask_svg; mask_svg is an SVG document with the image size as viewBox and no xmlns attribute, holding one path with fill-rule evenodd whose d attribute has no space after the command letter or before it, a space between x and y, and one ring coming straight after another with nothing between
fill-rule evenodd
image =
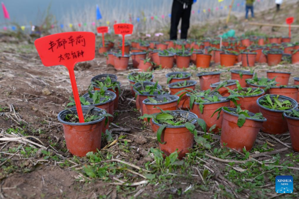
<instances>
[{"instance_id":1,"label":"black trousers of the person standing behind the pots at top centre","mask_svg":"<svg viewBox=\"0 0 299 199\"><path fill-rule=\"evenodd\" d=\"M192 5L184 5L176 0L173 0L171 9L171 25L170 25L170 40L177 39L177 26L180 18L181 23L181 39L187 39L188 29L190 25L190 14Z\"/></svg>"}]
</instances>

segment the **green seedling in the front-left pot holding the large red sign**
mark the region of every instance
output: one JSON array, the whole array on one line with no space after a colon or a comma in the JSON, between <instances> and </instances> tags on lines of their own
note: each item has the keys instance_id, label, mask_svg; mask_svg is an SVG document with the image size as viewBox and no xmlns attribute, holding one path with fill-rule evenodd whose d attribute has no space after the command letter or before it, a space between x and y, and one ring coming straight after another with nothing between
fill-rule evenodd
<instances>
[{"instance_id":1,"label":"green seedling in the front-left pot holding the large red sign","mask_svg":"<svg viewBox=\"0 0 299 199\"><path fill-rule=\"evenodd\" d=\"M90 121L95 121L101 117L106 117L105 120L105 125L108 123L109 118L108 117L113 117L113 115L109 113L97 115L98 112L91 113L91 111L95 108L95 106L89 106L86 114L84 115L84 122L90 122ZM79 117L77 113L74 113L72 110L68 109L71 111L71 114L65 115L64 121L66 122L71 122L71 123L79 123Z\"/></svg>"}]
</instances>

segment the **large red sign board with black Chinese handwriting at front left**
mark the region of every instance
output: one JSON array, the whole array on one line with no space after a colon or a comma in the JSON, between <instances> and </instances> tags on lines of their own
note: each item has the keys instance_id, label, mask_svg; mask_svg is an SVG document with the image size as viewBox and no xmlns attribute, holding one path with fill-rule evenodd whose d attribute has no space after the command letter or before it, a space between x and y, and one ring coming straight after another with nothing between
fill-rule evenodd
<instances>
[{"instance_id":1,"label":"large red sign board with black Chinese handwriting at front left","mask_svg":"<svg viewBox=\"0 0 299 199\"><path fill-rule=\"evenodd\" d=\"M94 59L96 36L92 32L64 32L36 39L34 45L43 65L71 68Z\"/></svg>"}]
</instances>

